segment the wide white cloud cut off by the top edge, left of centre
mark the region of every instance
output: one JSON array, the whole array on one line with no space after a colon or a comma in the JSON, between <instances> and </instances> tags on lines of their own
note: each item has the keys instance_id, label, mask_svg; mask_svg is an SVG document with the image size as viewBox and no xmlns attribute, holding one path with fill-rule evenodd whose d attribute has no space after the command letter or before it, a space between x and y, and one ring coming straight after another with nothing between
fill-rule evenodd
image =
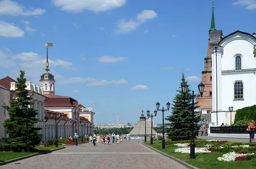
<instances>
[{"instance_id":1,"label":"wide white cloud cut off by the top edge, left of centre","mask_svg":"<svg viewBox=\"0 0 256 169\"><path fill-rule=\"evenodd\" d=\"M126 0L53 0L62 11L79 13L85 9L99 12L109 11L125 5Z\"/></svg>"}]
</instances>

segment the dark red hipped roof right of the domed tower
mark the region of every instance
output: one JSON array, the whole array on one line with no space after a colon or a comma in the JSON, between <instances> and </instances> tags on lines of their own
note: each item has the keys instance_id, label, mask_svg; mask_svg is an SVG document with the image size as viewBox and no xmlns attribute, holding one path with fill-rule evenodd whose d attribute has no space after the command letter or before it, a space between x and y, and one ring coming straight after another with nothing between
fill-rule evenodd
<instances>
[{"instance_id":1,"label":"dark red hipped roof right of the domed tower","mask_svg":"<svg viewBox=\"0 0 256 169\"><path fill-rule=\"evenodd\" d=\"M73 107L73 102L76 101L72 97L60 95L45 95L48 100L45 101L45 107Z\"/></svg>"}]
</instances>

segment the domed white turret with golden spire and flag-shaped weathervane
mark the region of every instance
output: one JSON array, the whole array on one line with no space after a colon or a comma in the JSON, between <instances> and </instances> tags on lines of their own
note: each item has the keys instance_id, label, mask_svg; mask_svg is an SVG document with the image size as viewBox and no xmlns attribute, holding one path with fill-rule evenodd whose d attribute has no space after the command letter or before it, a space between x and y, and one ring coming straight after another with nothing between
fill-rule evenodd
<instances>
[{"instance_id":1,"label":"domed white turret with golden spire and flag-shaped weathervane","mask_svg":"<svg viewBox=\"0 0 256 169\"><path fill-rule=\"evenodd\" d=\"M49 73L49 63L48 63L48 47L53 47L52 43L46 43L45 47L47 49L46 53L46 73L41 75L41 80L40 81L40 87L43 89L44 94L50 94L54 95L55 94L55 80L54 80L54 75Z\"/></svg>"}]
</instances>

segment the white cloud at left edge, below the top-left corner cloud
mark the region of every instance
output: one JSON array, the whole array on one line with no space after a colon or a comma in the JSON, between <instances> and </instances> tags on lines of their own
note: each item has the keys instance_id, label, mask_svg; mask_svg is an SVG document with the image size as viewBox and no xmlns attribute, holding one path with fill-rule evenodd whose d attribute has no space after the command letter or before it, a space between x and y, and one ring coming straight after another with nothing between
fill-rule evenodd
<instances>
[{"instance_id":1,"label":"white cloud at left edge, below the top-left corner cloud","mask_svg":"<svg viewBox=\"0 0 256 169\"><path fill-rule=\"evenodd\" d=\"M12 23L0 20L0 36L3 37L24 37L25 32Z\"/></svg>"}]
</instances>

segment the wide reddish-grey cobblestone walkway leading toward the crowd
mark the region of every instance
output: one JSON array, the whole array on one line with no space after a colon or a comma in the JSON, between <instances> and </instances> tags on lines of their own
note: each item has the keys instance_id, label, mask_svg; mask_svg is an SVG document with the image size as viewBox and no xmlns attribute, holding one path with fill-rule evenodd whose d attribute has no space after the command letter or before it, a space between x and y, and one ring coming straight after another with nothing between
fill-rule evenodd
<instances>
[{"instance_id":1,"label":"wide reddish-grey cobblestone walkway leading toward the crowd","mask_svg":"<svg viewBox=\"0 0 256 169\"><path fill-rule=\"evenodd\" d=\"M142 145L142 140L121 144L80 144L0 166L1 169L187 169Z\"/></svg>"}]
</instances>

